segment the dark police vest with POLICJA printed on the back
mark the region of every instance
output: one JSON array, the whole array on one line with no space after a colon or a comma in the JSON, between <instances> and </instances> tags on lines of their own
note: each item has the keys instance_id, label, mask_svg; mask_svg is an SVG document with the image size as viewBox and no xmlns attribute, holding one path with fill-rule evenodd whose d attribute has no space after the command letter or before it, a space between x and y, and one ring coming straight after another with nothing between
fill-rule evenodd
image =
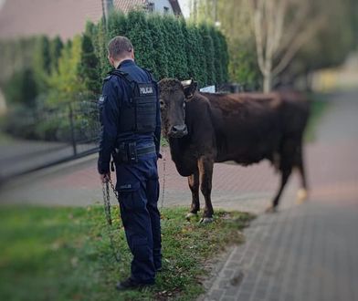
<instances>
[{"instance_id":1,"label":"dark police vest with POLICJA printed on the back","mask_svg":"<svg viewBox=\"0 0 358 301\"><path fill-rule=\"evenodd\" d=\"M119 133L153 133L156 127L157 92L155 82L149 71L150 83L137 82L120 69L111 71L111 75L123 78L132 88L128 104L123 103L120 110Z\"/></svg>"}]
</instances>

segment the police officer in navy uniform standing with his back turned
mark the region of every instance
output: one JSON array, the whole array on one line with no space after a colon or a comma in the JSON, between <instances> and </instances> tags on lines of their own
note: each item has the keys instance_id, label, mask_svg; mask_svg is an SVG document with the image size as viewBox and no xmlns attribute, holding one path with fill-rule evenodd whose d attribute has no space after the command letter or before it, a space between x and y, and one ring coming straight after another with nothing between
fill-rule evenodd
<instances>
[{"instance_id":1,"label":"police officer in navy uniform standing with his back turned","mask_svg":"<svg viewBox=\"0 0 358 301\"><path fill-rule=\"evenodd\" d=\"M131 249L131 276L117 289L153 285L162 268L159 182L161 119L157 84L151 73L134 62L131 41L115 36L108 45L114 69L104 79L100 107L102 182L111 179L111 157L116 167L121 220Z\"/></svg>"}]
</instances>

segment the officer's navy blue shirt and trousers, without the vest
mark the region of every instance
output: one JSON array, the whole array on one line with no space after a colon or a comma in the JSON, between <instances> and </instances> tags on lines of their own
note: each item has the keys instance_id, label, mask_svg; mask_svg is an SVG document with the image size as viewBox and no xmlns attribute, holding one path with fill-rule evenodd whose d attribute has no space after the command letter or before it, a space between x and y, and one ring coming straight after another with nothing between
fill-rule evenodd
<instances>
[{"instance_id":1,"label":"officer's navy blue shirt and trousers, without the vest","mask_svg":"<svg viewBox=\"0 0 358 301\"><path fill-rule=\"evenodd\" d=\"M150 74L132 60L124 60L118 69L136 82L153 82ZM138 155L135 162L116 162L116 190L119 192L121 219L133 254L131 278L138 283L152 284L155 270L162 265L160 213L157 207L160 106L156 99L153 132L123 132L120 129L121 110L131 106L132 93L132 86L124 78L111 75L105 79L99 103L102 129L98 169L100 173L110 172L111 153L122 143L134 141L138 153L153 148L152 152Z\"/></svg>"}]
</instances>

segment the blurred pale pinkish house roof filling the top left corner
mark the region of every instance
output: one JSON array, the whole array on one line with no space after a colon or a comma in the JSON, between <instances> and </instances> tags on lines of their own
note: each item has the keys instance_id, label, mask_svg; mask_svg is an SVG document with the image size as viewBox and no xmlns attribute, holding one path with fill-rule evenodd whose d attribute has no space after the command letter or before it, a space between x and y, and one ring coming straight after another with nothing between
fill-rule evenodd
<instances>
[{"instance_id":1,"label":"blurred pale pinkish house roof filling the top left corner","mask_svg":"<svg viewBox=\"0 0 358 301\"><path fill-rule=\"evenodd\" d=\"M0 39L21 36L72 38L86 21L98 22L100 0L6 0L0 9Z\"/></svg>"}]
</instances>

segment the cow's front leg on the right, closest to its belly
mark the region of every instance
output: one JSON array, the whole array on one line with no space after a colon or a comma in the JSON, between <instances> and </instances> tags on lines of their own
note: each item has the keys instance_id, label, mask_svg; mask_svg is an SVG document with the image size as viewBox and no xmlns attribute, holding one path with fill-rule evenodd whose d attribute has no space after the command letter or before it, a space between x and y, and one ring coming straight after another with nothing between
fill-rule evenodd
<instances>
[{"instance_id":1,"label":"cow's front leg on the right, closest to its belly","mask_svg":"<svg viewBox=\"0 0 358 301\"><path fill-rule=\"evenodd\" d=\"M204 213L200 223L210 223L213 221L214 213L211 203L214 160L210 157L202 157L198 161L198 168L200 174L200 190L205 198Z\"/></svg>"}]
</instances>

